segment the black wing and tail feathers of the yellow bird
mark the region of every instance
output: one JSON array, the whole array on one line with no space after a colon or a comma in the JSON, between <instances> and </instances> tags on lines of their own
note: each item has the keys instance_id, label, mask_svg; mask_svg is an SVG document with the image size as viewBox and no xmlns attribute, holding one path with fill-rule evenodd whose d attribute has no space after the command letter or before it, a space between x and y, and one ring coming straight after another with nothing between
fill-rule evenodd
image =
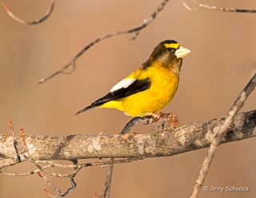
<instances>
[{"instance_id":1,"label":"black wing and tail feathers of the yellow bird","mask_svg":"<svg viewBox=\"0 0 256 198\"><path fill-rule=\"evenodd\" d=\"M108 101L118 101L123 97L129 97L130 95L133 95L135 93L145 91L146 89L150 88L150 85L151 85L151 82L149 77L143 80L136 80L132 84L130 84L127 88L121 88L121 89L115 90L114 92L107 93L105 97L102 97L97 101L94 101L90 106L78 111L77 113L75 113L75 115L77 115L78 113L82 113L86 110L103 105Z\"/></svg>"}]
</instances>

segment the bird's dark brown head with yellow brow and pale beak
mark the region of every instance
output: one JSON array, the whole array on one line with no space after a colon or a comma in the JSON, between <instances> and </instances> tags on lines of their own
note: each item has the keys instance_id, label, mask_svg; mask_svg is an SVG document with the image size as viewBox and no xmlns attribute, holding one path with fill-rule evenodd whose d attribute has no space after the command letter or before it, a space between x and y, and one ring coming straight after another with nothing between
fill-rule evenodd
<instances>
[{"instance_id":1,"label":"bird's dark brown head with yellow brow and pale beak","mask_svg":"<svg viewBox=\"0 0 256 198\"><path fill-rule=\"evenodd\" d=\"M151 63L152 61L158 61L162 63L162 66L171 66L180 70L182 57L186 57L188 53L190 53L190 49L180 46L180 44L174 40L166 40L160 42L158 46L154 48L149 61Z\"/></svg>"}]
</instances>

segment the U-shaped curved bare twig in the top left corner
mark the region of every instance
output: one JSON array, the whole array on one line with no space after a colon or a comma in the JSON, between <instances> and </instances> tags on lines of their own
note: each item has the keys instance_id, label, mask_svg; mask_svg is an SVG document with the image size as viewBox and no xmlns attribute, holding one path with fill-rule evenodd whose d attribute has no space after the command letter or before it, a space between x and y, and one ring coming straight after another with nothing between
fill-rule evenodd
<instances>
[{"instance_id":1,"label":"U-shaped curved bare twig in the top left corner","mask_svg":"<svg viewBox=\"0 0 256 198\"><path fill-rule=\"evenodd\" d=\"M43 21L46 20L46 18L48 18L50 16L50 14L53 12L54 10L54 5L55 5L55 0L50 0L50 9L46 11L46 14L42 17L39 18L37 20L31 21L31 22L27 22L25 20L23 20L22 18L18 18L16 17L6 6L6 4L2 3L3 8L6 10L6 13L9 14L10 18L13 18L16 22L21 22L23 24L26 25L36 25L38 23L41 23Z\"/></svg>"}]
</instances>

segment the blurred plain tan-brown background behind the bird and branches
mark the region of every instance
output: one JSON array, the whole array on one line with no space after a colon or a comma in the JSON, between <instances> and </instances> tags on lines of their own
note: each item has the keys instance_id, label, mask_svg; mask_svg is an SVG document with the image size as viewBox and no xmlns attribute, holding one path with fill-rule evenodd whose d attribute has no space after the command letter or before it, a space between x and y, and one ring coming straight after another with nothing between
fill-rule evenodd
<instances>
[{"instance_id":1,"label":"blurred plain tan-brown background behind the bird and branches","mask_svg":"<svg viewBox=\"0 0 256 198\"><path fill-rule=\"evenodd\" d=\"M41 18L50 1L4 1L18 17ZM181 1L170 1L135 41L124 35L93 46L77 61L70 75L59 75L34 85L60 69L78 51L102 34L140 25L161 1L57 1L53 14L37 26L26 26L0 9L0 126L10 134L65 136L105 131L120 133L130 117L114 109L93 109L77 117L74 112L109 92L149 57L159 42L174 39L191 50L184 58L178 93L162 111L177 113L181 125L224 117L256 68L256 14L214 10L191 12ZM201 1L214 6L256 9L256 2ZM193 6L191 2L188 2ZM242 111L256 108L256 92ZM151 133L154 126L138 125L137 133ZM256 139L221 145L204 185L245 186L250 192L202 192L200 197L256 196ZM207 149L177 156L158 157L114 166L111 197L189 197ZM92 161L92 160L80 160ZM30 163L5 168L6 172L28 172ZM61 170L60 172L63 172ZM68 197L95 197L101 193L106 168L84 168L75 177L77 189ZM68 179L48 176L62 191ZM38 176L0 176L0 197L47 197L55 195Z\"/></svg>"}]
</instances>

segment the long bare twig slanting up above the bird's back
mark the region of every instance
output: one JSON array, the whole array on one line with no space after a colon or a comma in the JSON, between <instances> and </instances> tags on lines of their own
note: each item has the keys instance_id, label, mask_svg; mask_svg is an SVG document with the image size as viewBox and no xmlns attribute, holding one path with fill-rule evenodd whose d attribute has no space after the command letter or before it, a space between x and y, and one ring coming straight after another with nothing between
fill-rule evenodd
<instances>
[{"instance_id":1,"label":"long bare twig slanting up above the bird's back","mask_svg":"<svg viewBox=\"0 0 256 198\"><path fill-rule=\"evenodd\" d=\"M164 0L159 6L158 8L154 11L153 14L151 14L148 18L144 19L142 22L142 25L135 27L133 29L130 30L124 30L124 31L118 31L112 34L106 34L106 35L102 35L101 37L97 38L94 40L94 42L91 42L88 46L86 46L84 49L82 49L69 63L67 63L65 66L63 66L61 69L59 69L58 71L56 71L55 73L50 74L50 76L45 77L40 79L38 82L36 82L35 84L42 84L45 81L50 80L51 78L57 76L60 73L63 73L66 69L68 69L70 66L73 65L74 67L74 63L75 61L78 59L78 57L80 57L83 53L86 52L86 50L90 49L90 47L94 46L96 43L101 42L102 40L106 39L106 38L112 38L118 35L122 35L122 34L132 34L134 33L134 37L131 38L132 40L134 40L137 36L139 31L141 31L142 29L146 28L146 26L148 26L150 24L150 22L154 21L154 18L157 17L157 15L159 14L160 11L163 10L163 8L166 6L166 3L169 2L169 0ZM72 70L74 71L74 69Z\"/></svg>"}]
</instances>

